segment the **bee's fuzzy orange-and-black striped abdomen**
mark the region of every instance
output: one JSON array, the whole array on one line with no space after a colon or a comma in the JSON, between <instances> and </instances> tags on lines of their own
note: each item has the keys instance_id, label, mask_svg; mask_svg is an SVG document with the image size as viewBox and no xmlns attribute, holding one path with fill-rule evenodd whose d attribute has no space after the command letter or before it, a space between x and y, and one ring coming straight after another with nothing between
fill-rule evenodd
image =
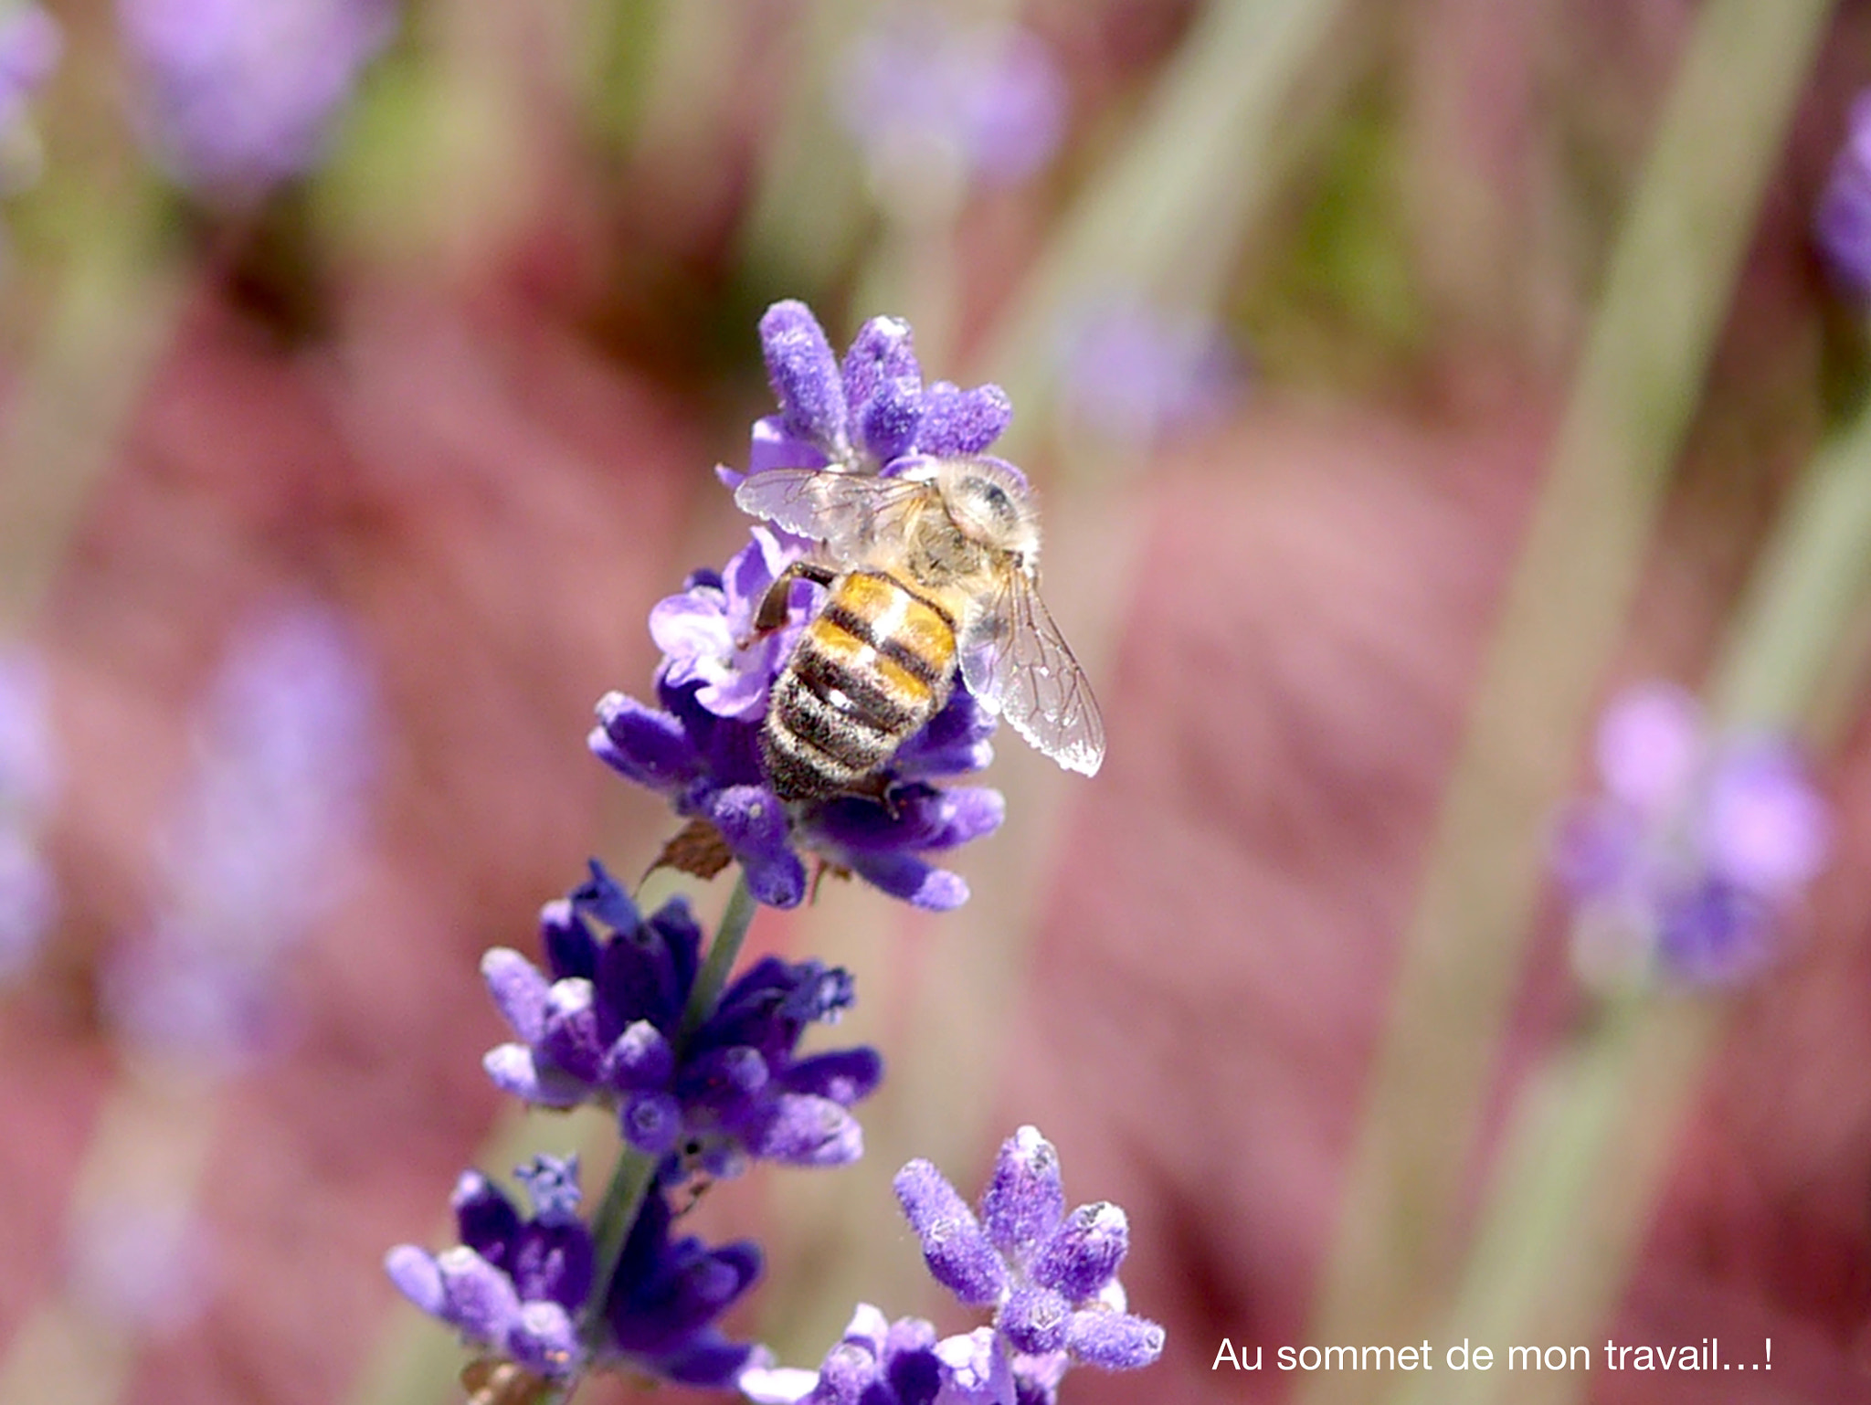
<instances>
[{"instance_id":1,"label":"bee's fuzzy orange-and-black striped abdomen","mask_svg":"<svg viewBox=\"0 0 1871 1405\"><path fill-rule=\"evenodd\" d=\"M784 801L851 789L883 767L954 687L954 619L877 571L833 582L773 685L761 750Z\"/></svg>"}]
</instances>

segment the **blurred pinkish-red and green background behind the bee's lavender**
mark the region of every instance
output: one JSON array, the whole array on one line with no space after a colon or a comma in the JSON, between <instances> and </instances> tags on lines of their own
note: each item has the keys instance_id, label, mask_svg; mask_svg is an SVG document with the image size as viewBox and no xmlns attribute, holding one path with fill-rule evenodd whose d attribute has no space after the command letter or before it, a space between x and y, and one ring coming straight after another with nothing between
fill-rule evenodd
<instances>
[{"instance_id":1,"label":"blurred pinkish-red and green background behind the bee's lavender","mask_svg":"<svg viewBox=\"0 0 1871 1405\"><path fill-rule=\"evenodd\" d=\"M1529 1091L1609 1048L1624 1121L1501 1280L1564 1302L1504 1340L1772 1377L1493 1388L1871 1401L1871 535L1800 509L1856 464L1871 215L1815 217L1871 6L0 6L4 1399L460 1398L382 1253L529 1137L608 1171L503 1113L477 960L674 829L584 735L745 541L711 470L801 297L1008 389L1110 756L1001 745L958 913L761 913L891 1079L861 1166L694 1212L767 1246L739 1330L960 1325L889 1177L973 1194L1035 1123L1169 1332L1063 1399L1390 1398L1272 1353L1482 1340ZM1776 664L1749 602L1802 561ZM1748 668L1830 864L1749 978L1594 993L1544 861L1592 718L1665 677L1719 722Z\"/></svg>"}]
</instances>

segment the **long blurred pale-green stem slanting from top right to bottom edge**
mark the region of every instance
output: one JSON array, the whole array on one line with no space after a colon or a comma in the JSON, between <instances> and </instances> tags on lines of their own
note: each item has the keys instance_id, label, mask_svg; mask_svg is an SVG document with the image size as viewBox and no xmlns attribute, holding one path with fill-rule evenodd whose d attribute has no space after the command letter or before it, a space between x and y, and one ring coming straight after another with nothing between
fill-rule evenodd
<instances>
[{"instance_id":1,"label":"long blurred pale-green stem slanting from top right to bottom edge","mask_svg":"<svg viewBox=\"0 0 1871 1405\"><path fill-rule=\"evenodd\" d=\"M1549 816L1572 784L1830 7L1710 0L1697 15L1437 821L1325 1272L1319 1341L1416 1340L1443 1325L1458 1287L1461 1195L1521 977ZM1300 1398L1379 1394L1377 1379L1321 1375Z\"/></svg>"}]
</instances>

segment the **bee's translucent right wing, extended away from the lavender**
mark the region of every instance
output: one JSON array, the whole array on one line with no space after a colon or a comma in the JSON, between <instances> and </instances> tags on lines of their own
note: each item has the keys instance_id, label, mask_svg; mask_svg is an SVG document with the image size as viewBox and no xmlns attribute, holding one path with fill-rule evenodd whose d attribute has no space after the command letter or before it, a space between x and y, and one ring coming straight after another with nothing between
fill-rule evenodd
<instances>
[{"instance_id":1,"label":"bee's translucent right wing, extended away from the lavender","mask_svg":"<svg viewBox=\"0 0 1871 1405\"><path fill-rule=\"evenodd\" d=\"M1038 589L1010 574L960 642L962 681L990 711L1066 771L1098 775L1104 718L1091 681L1059 636Z\"/></svg>"}]
</instances>

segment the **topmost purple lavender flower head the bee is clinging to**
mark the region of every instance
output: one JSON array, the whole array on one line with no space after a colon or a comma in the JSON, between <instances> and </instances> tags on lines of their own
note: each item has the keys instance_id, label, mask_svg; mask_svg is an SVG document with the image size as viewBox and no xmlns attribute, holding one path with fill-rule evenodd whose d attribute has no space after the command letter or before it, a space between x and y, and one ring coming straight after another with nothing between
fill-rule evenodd
<instances>
[{"instance_id":1,"label":"topmost purple lavender flower head the bee is clinging to","mask_svg":"<svg viewBox=\"0 0 1871 1405\"><path fill-rule=\"evenodd\" d=\"M780 413L754 425L748 468L827 468L887 473L909 455L980 453L1007 428L1010 408L995 385L960 391L922 385L909 327L874 318L840 367L823 327L803 303L775 303L760 324ZM720 470L726 483L743 481ZM960 876L922 859L992 833L1005 816L994 789L930 784L984 767L994 717L956 687L928 726L909 737L877 778L877 795L786 804L773 789L760 724L775 679L821 601L795 582L786 625L750 640L767 587L810 544L754 528L724 571L698 571L660 601L649 630L664 651L651 707L621 692L597 707L591 750L625 778L655 789L705 840L683 866L703 877L739 861L752 894L793 907L806 894L806 857L851 872L917 907L945 911L967 900ZM745 645L745 647L743 647Z\"/></svg>"}]
</instances>

